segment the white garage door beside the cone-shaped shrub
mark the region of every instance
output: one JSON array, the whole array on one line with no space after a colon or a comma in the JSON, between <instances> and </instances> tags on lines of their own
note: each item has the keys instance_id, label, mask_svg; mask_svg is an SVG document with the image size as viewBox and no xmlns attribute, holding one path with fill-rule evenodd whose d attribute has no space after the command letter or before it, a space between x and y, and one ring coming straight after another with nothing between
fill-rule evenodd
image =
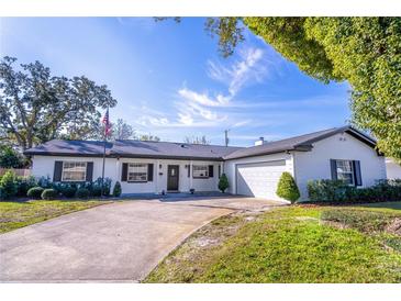
<instances>
[{"instance_id":1,"label":"white garage door beside the cone-shaped shrub","mask_svg":"<svg viewBox=\"0 0 401 301\"><path fill-rule=\"evenodd\" d=\"M236 165L236 193L277 200L277 185L286 160Z\"/></svg>"}]
</instances>

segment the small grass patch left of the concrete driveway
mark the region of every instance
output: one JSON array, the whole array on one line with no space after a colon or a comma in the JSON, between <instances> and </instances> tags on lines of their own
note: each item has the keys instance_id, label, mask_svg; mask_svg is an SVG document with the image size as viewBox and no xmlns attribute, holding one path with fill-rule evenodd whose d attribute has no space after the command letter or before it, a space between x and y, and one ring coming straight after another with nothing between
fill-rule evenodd
<instances>
[{"instance_id":1,"label":"small grass patch left of the concrete driveway","mask_svg":"<svg viewBox=\"0 0 401 301\"><path fill-rule=\"evenodd\" d=\"M25 202L0 201L0 233L46 221L63 214L104 204L98 200L63 200Z\"/></svg>"}]
</instances>

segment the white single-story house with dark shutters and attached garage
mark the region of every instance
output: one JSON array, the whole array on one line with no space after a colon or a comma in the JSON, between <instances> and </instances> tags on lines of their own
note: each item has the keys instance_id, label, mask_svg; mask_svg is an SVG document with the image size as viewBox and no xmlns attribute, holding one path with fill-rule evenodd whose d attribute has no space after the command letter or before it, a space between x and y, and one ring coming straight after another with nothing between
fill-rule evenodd
<instances>
[{"instance_id":1,"label":"white single-story house with dark shutters and attached garage","mask_svg":"<svg viewBox=\"0 0 401 301\"><path fill-rule=\"evenodd\" d=\"M102 175L102 142L51 141L30 148L32 174L53 181L90 181ZM108 143L104 175L121 181L123 193L218 191L219 177L229 177L229 192L278 200L282 171L293 175L301 198L313 179L344 179L365 187L386 178L385 157L376 142L350 127L336 127L302 136L226 147L169 142L116 141Z\"/></svg>"}]
</instances>

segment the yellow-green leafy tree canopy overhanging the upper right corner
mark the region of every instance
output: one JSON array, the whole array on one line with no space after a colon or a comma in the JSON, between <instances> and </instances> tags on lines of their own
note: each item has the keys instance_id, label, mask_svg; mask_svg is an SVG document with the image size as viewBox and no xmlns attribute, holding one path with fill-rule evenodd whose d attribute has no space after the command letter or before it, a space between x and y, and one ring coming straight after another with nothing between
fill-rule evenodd
<instances>
[{"instance_id":1,"label":"yellow-green leafy tree canopy overhanging the upper right corner","mask_svg":"<svg viewBox=\"0 0 401 301\"><path fill-rule=\"evenodd\" d=\"M243 40L245 25L307 75L326 83L347 80L353 123L401 160L401 18L214 18L207 29L209 23L225 56Z\"/></svg>"}]
</instances>

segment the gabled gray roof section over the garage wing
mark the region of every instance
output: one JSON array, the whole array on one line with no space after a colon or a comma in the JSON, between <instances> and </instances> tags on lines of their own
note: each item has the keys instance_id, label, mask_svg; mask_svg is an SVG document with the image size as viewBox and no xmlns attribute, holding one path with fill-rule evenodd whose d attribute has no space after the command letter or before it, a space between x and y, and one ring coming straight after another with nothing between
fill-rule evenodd
<instances>
[{"instance_id":1,"label":"gabled gray roof section over the garage wing","mask_svg":"<svg viewBox=\"0 0 401 301\"><path fill-rule=\"evenodd\" d=\"M313 143L330 137L332 135L335 135L337 133L344 133L344 132L355 136L356 138L363 141L364 143L369 144L371 147L376 146L376 141L369 137L368 135L357 131L352 126L343 126L343 127L333 127L328 130L323 130L286 140L269 142L258 146L242 148L224 156L223 158L236 159L236 158L281 153L287 150L310 150L312 148Z\"/></svg>"}]
</instances>

